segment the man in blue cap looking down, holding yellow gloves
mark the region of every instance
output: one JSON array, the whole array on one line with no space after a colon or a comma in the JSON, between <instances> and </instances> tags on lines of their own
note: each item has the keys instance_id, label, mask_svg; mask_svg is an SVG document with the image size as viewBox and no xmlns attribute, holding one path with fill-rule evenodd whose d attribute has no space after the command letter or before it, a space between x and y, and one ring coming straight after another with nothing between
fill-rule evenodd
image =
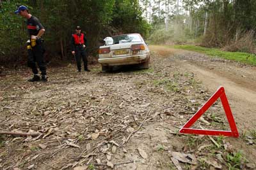
<instances>
[{"instance_id":1,"label":"man in blue cap looking down, holding yellow gloves","mask_svg":"<svg viewBox=\"0 0 256 170\"><path fill-rule=\"evenodd\" d=\"M33 78L30 78L28 81L47 81L46 64L44 61L44 46L41 39L41 36L44 34L45 29L38 20L38 18L32 16L29 13L26 6L19 6L15 13L19 13L20 16L27 18L26 24L29 33L29 41L27 41L28 67L31 67L32 72L34 73ZM41 71L42 78L40 78L40 76L38 75L36 62Z\"/></svg>"}]
</instances>

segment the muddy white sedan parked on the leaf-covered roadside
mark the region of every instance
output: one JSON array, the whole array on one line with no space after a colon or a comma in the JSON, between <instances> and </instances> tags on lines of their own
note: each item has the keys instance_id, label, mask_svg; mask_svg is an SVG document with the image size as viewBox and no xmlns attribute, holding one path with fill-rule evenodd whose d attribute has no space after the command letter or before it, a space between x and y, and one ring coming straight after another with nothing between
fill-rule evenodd
<instances>
[{"instance_id":1,"label":"muddy white sedan parked on the leaf-covered roadside","mask_svg":"<svg viewBox=\"0 0 256 170\"><path fill-rule=\"evenodd\" d=\"M104 39L99 48L99 63L102 71L111 71L113 66L139 64L148 69L150 60L148 45L140 34L123 34Z\"/></svg>"}]
</instances>

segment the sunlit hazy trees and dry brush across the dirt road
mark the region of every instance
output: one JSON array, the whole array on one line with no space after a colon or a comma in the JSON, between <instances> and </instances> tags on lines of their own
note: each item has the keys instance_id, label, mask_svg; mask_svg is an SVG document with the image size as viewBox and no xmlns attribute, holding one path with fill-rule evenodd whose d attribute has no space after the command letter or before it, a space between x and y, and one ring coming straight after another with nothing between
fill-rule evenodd
<instances>
[{"instance_id":1,"label":"sunlit hazy trees and dry brush across the dirt road","mask_svg":"<svg viewBox=\"0 0 256 170\"><path fill-rule=\"evenodd\" d=\"M188 40L196 39L196 43L202 46L255 53L256 1L143 0L143 2L155 4L151 7L148 17L154 29L150 36L150 41L153 43L184 44L188 43Z\"/></svg>"}]
</instances>

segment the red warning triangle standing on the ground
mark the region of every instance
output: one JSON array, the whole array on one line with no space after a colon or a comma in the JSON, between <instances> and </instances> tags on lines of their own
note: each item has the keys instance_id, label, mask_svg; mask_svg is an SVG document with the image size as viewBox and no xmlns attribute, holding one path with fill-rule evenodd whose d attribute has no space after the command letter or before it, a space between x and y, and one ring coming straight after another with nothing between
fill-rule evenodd
<instances>
[{"instance_id":1,"label":"red warning triangle standing on the ground","mask_svg":"<svg viewBox=\"0 0 256 170\"><path fill-rule=\"evenodd\" d=\"M200 118L205 111L207 111L212 104L214 104L218 98L220 97L222 106L225 110L227 120L230 126L231 131L215 131L215 130L205 130L205 129L191 129L190 127L195 124L196 120ZM239 137L239 133L237 131L236 122L234 120L234 117L232 115L230 106L228 104L228 99L225 94L224 87L220 87L213 95L212 97L198 110L193 117L189 119L189 121L180 129L180 133L186 133L186 134L204 134L204 135L216 135L216 136L232 136L234 138Z\"/></svg>"}]
</instances>

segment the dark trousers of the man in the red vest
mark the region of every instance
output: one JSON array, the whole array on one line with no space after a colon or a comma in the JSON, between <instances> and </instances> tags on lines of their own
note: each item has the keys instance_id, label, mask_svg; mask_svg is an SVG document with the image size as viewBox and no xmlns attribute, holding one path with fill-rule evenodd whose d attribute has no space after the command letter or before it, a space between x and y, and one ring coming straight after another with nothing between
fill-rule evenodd
<instances>
[{"instance_id":1,"label":"dark trousers of the man in the red vest","mask_svg":"<svg viewBox=\"0 0 256 170\"><path fill-rule=\"evenodd\" d=\"M81 59L83 59L84 62L84 70L88 69L87 65L88 65L88 61L87 61L87 57L86 57L86 52L83 48L83 46L76 46L76 50L75 50L75 55L76 55L76 65L77 65L77 69L81 70Z\"/></svg>"}]
</instances>

